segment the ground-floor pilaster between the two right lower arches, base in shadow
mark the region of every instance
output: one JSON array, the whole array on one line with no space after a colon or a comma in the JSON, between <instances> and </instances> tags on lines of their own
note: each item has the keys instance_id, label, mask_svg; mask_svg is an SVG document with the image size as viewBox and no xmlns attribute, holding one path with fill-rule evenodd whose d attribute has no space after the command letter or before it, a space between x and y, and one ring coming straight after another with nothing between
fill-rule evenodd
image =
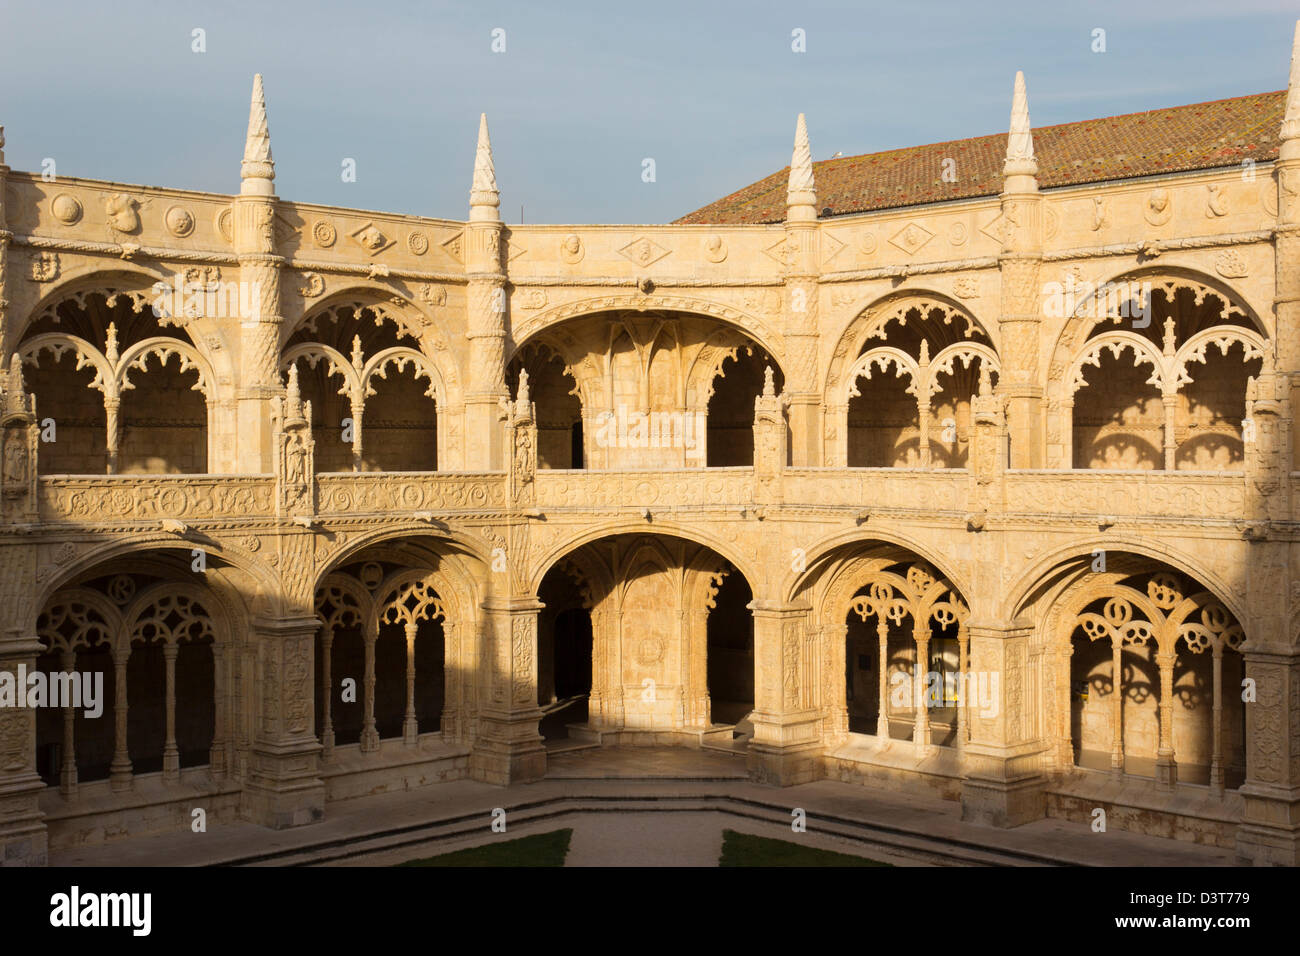
<instances>
[{"instance_id":1,"label":"ground-floor pilaster between the two right lower arches, base in shadow","mask_svg":"<svg viewBox=\"0 0 1300 956\"><path fill-rule=\"evenodd\" d=\"M1046 813L1043 741L1030 698L1030 627L970 626L962 819L1019 826Z\"/></svg>"}]
</instances>

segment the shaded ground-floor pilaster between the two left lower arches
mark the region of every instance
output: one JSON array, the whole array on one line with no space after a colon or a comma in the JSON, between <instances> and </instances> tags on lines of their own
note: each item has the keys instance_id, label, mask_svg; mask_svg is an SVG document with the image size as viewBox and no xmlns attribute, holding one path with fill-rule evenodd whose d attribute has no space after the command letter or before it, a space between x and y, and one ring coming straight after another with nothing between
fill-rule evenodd
<instances>
[{"instance_id":1,"label":"shaded ground-floor pilaster between the two left lower arches","mask_svg":"<svg viewBox=\"0 0 1300 956\"><path fill-rule=\"evenodd\" d=\"M256 714L240 814L283 830L325 814L315 728L315 617L255 619Z\"/></svg>"}]
</instances>

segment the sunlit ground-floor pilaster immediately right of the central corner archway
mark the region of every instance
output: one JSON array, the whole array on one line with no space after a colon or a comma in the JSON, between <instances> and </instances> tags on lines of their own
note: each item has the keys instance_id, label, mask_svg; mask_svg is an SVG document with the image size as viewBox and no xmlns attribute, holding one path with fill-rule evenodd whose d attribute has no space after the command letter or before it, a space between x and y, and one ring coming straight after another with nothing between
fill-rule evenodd
<instances>
[{"instance_id":1,"label":"sunlit ground-floor pilaster immediately right of the central corner archway","mask_svg":"<svg viewBox=\"0 0 1300 956\"><path fill-rule=\"evenodd\" d=\"M754 736L751 779L789 787L820 774L822 711L812 696L818 675L805 653L809 609L754 601Z\"/></svg>"}]
</instances>

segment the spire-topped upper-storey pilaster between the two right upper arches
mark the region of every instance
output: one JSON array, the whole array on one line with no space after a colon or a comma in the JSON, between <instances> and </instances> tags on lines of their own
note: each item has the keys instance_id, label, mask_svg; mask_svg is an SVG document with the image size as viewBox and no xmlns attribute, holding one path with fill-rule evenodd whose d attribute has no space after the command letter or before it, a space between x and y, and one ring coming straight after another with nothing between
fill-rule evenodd
<instances>
[{"instance_id":1,"label":"spire-topped upper-storey pilaster between the two right upper arches","mask_svg":"<svg viewBox=\"0 0 1300 956\"><path fill-rule=\"evenodd\" d=\"M1039 373L1043 196L1039 194L1037 170L1024 75L1017 73L1011 129L1002 165L1002 250L998 255L1002 367L997 381L997 392L1006 405L1013 468L1043 467L1043 386Z\"/></svg>"}]
</instances>

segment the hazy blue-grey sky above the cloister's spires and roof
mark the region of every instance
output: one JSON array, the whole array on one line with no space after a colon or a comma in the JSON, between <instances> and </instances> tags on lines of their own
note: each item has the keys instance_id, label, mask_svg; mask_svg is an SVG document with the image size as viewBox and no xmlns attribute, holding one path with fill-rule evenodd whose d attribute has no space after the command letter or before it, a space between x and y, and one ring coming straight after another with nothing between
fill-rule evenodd
<instances>
[{"instance_id":1,"label":"hazy blue-grey sky above the cloister's spires and roof","mask_svg":"<svg viewBox=\"0 0 1300 956\"><path fill-rule=\"evenodd\" d=\"M1297 17L1262 0L0 0L0 125L16 169L233 193L261 72L285 199L464 219L486 112L508 222L520 204L528 222L666 222L785 165L798 112L827 159L1004 130L1017 69L1035 126L1278 90Z\"/></svg>"}]
</instances>

